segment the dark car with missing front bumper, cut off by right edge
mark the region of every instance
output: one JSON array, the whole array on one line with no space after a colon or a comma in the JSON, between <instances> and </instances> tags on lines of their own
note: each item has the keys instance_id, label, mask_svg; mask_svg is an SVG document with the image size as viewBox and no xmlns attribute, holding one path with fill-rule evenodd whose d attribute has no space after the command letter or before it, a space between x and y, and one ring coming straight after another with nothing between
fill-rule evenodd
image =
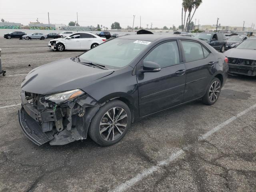
<instances>
[{"instance_id":1,"label":"dark car with missing front bumper, cut off by right edge","mask_svg":"<svg viewBox=\"0 0 256 192\"><path fill-rule=\"evenodd\" d=\"M249 38L235 48L227 50L229 72L256 76L256 38Z\"/></svg>"}]
</instances>

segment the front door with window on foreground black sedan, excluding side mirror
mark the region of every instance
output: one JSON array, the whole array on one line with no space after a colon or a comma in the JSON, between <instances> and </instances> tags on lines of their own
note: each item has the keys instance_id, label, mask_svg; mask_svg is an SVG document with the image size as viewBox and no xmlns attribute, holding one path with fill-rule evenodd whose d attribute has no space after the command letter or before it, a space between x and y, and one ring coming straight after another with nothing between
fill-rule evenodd
<instances>
[{"instance_id":1,"label":"front door with window on foreground black sedan, excluding side mirror","mask_svg":"<svg viewBox=\"0 0 256 192\"><path fill-rule=\"evenodd\" d=\"M161 70L141 73L144 61L158 63ZM136 71L140 116L181 104L186 70L176 40L155 46L136 66Z\"/></svg>"}]
</instances>

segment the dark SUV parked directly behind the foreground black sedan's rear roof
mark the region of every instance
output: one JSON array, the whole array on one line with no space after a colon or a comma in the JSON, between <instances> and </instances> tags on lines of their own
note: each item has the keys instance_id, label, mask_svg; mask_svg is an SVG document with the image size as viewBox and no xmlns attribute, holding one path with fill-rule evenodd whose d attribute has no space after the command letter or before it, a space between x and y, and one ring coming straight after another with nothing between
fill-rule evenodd
<instances>
[{"instance_id":1,"label":"dark SUV parked directly behind the foreground black sedan's rear roof","mask_svg":"<svg viewBox=\"0 0 256 192\"><path fill-rule=\"evenodd\" d=\"M219 50L222 53L225 51L227 40L224 33L203 32L196 34L194 38L205 41L214 49Z\"/></svg>"}]
</instances>

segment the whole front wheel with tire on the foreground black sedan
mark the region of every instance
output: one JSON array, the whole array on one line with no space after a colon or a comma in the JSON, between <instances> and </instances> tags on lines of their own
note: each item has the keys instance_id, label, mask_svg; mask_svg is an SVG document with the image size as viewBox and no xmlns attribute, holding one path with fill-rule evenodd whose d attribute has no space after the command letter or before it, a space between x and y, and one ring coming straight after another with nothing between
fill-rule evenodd
<instances>
[{"instance_id":1,"label":"whole front wheel with tire on the foreground black sedan","mask_svg":"<svg viewBox=\"0 0 256 192\"><path fill-rule=\"evenodd\" d=\"M129 107L120 100L106 102L92 119L88 134L101 146L119 142L127 133L131 123Z\"/></svg>"}]
</instances>

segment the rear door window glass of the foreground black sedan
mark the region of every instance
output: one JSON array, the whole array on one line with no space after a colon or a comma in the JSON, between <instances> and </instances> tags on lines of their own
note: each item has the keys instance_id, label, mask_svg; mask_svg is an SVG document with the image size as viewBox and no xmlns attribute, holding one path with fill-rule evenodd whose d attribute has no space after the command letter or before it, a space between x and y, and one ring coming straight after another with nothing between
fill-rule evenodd
<instances>
[{"instance_id":1,"label":"rear door window glass of the foreground black sedan","mask_svg":"<svg viewBox=\"0 0 256 192\"><path fill-rule=\"evenodd\" d=\"M194 61L204 58L204 53L200 43L192 41L181 42L186 61Z\"/></svg>"}]
</instances>

